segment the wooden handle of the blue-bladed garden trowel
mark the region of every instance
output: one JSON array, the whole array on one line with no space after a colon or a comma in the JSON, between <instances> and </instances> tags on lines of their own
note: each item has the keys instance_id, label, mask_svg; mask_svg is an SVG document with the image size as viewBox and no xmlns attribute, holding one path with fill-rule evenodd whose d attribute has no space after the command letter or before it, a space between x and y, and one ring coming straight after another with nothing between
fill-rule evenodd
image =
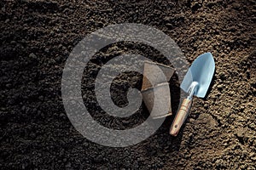
<instances>
[{"instance_id":1,"label":"wooden handle of the blue-bladed garden trowel","mask_svg":"<svg viewBox=\"0 0 256 170\"><path fill-rule=\"evenodd\" d=\"M177 112L177 115L172 122L172 127L170 129L170 134L177 136L179 129L182 127L183 122L185 122L187 116L189 115L189 108L191 106L192 99L184 99L182 105Z\"/></svg>"}]
</instances>

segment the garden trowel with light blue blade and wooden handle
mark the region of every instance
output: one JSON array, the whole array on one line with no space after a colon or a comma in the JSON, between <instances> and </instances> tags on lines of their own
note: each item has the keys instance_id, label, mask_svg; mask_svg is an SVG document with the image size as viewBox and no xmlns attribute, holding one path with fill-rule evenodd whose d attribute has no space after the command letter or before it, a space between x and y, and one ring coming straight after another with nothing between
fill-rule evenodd
<instances>
[{"instance_id":1,"label":"garden trowel with light blue blade and wooden handle","mask_svg":"<svg viewBox=\"0 0 256 170\"><path fill-rule=\"evenodd\" d=\"M189 71L186 73L180 86L184 92L189 94L189 96L183 100L183 103L172 122L170 134L173 136L177 136L179 129L189 115L193 95L200 98L206 96L207 90L212 82L214 70L215 63L211 53L201 54L189 67Z\"/></svg>"}]
</instances>

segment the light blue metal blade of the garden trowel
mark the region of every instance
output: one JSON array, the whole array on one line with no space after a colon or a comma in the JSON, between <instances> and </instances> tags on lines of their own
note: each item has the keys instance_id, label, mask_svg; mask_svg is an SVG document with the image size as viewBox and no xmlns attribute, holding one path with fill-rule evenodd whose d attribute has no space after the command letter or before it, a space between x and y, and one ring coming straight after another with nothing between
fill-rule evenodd
<instances>
[{"instance_id":1,"label":"light blue metal blade of the garden trowel","mask_svg":"<svg viewBox=\"0 0 256 170\"><path fill-rule=\"evenodd\" d=\"M192 82L198 82L194 95L204 98L212 82L212 76L215 70L215 63L211 53L198 56L186 73L181 88L189 93Z\"/></svg>"}]
</instances>

